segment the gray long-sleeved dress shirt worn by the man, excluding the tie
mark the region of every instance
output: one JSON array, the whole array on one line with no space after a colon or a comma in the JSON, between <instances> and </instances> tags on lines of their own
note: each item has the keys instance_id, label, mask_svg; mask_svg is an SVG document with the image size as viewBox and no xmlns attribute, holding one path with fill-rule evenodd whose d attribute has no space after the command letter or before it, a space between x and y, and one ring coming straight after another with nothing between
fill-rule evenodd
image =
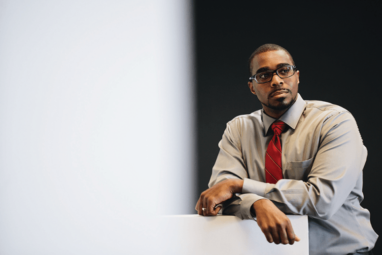
<instances>
[{"instance_id":1,"label":"gray long-sleeved dress shirt worn by the man, excluding the tie","mask_svg":"<svg viewBox=\"0 0 382 255\"><path fill-rule=\"evenodd\" d=\"M296 102L279 118L282 180L265 182L265 153L276 119L263 110L227 123L208 186L243 179L243 194L223 205L223 214L253 219L252 204L270 199L285 214L308 215L310 255L347 255L374 247L378 235L363 200L367 150L353 116L321 101ZM265 240L265 239L264 239Z\"/></svg>"}]
</instances>

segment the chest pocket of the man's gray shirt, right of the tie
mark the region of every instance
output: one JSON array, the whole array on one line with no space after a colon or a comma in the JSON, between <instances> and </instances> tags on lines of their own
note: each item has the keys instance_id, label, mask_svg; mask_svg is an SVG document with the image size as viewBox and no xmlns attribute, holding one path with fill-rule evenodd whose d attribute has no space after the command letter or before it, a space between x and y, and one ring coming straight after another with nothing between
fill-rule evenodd
<instances>
[{"instance_id":1,"label":"chest pocket of the man's gray shirt, right of the tie","mask_svg":"<svg viewBox=\"0 0 382 255\"><path fill-rule=\"evenodd\" d=\"M311 172L314 157L304 161L287 161L283 173L284 179L308 181L308 174Z\"/></svg>"}]
</instances>

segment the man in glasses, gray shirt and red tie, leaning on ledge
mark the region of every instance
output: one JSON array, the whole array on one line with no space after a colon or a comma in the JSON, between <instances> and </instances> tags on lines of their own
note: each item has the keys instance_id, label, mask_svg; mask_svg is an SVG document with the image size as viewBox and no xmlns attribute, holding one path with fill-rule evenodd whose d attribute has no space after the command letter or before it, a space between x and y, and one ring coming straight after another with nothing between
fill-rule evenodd
<instances>
[{"instance_id":1,"label":"man in glasses, gray shirt and red tie, leaning on ledge","mask_svg":"<svg viewBox=\"0 0 382 255\"><path fill-rule=\"evenodd\" d=\"M372 254L378 235L363 200L367 150L352 115L304 101L289 52L260 46L248 61L248 86L263 106L227 123L199 215L256 220L268 242L293 244L285 214L309 216L311 255Z\"/></svg>"}]
</instances>

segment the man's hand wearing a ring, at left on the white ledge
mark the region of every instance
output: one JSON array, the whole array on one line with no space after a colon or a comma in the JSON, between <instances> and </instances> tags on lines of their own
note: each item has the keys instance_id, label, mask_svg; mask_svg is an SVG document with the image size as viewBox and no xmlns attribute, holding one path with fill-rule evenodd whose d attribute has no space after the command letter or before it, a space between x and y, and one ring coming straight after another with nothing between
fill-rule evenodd
<instances>
[{"instance_id":1,"label":"man's hand wearing a ring, at left on the white ledge","mask_svg":"<svg viewBox=\"0 0 382 255\"><path fill-rule=\"evenodd\" d=\"M221 206L216 208L215 206L232 198L235 193L242 193L243 182L240 179L228 179L213 185L202 192L198 203L196 203L195 210L202 216L217 215Z\"/></svg>"}]
</instances>

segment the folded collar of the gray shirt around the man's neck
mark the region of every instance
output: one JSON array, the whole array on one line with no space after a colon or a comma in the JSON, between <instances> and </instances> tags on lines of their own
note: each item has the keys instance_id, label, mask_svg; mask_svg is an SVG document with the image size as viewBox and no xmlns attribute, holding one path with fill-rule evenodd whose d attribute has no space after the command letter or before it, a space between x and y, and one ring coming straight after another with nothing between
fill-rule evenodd
<instances>
[{"instance_id":1,"label":"folded collar of the gray shirt around the man's neck","mask_svg":"<svg viewBox=\"0 0 382 255\"><path fill-rule=\"evenodd\" d=\"M292 129L295 129L306 105L307 103L305 103L305 101L302 99L300 94L297 93L296 101L287 111L285 111L284 114L282 114L279 120L285 122ZM264 109L262 110L262 117L263 117L263 123L264 123L264 136L266 136L269 127L277 119L274 119L268 116L267 114L265 114Z\"/></svg>"}]
</instances>

